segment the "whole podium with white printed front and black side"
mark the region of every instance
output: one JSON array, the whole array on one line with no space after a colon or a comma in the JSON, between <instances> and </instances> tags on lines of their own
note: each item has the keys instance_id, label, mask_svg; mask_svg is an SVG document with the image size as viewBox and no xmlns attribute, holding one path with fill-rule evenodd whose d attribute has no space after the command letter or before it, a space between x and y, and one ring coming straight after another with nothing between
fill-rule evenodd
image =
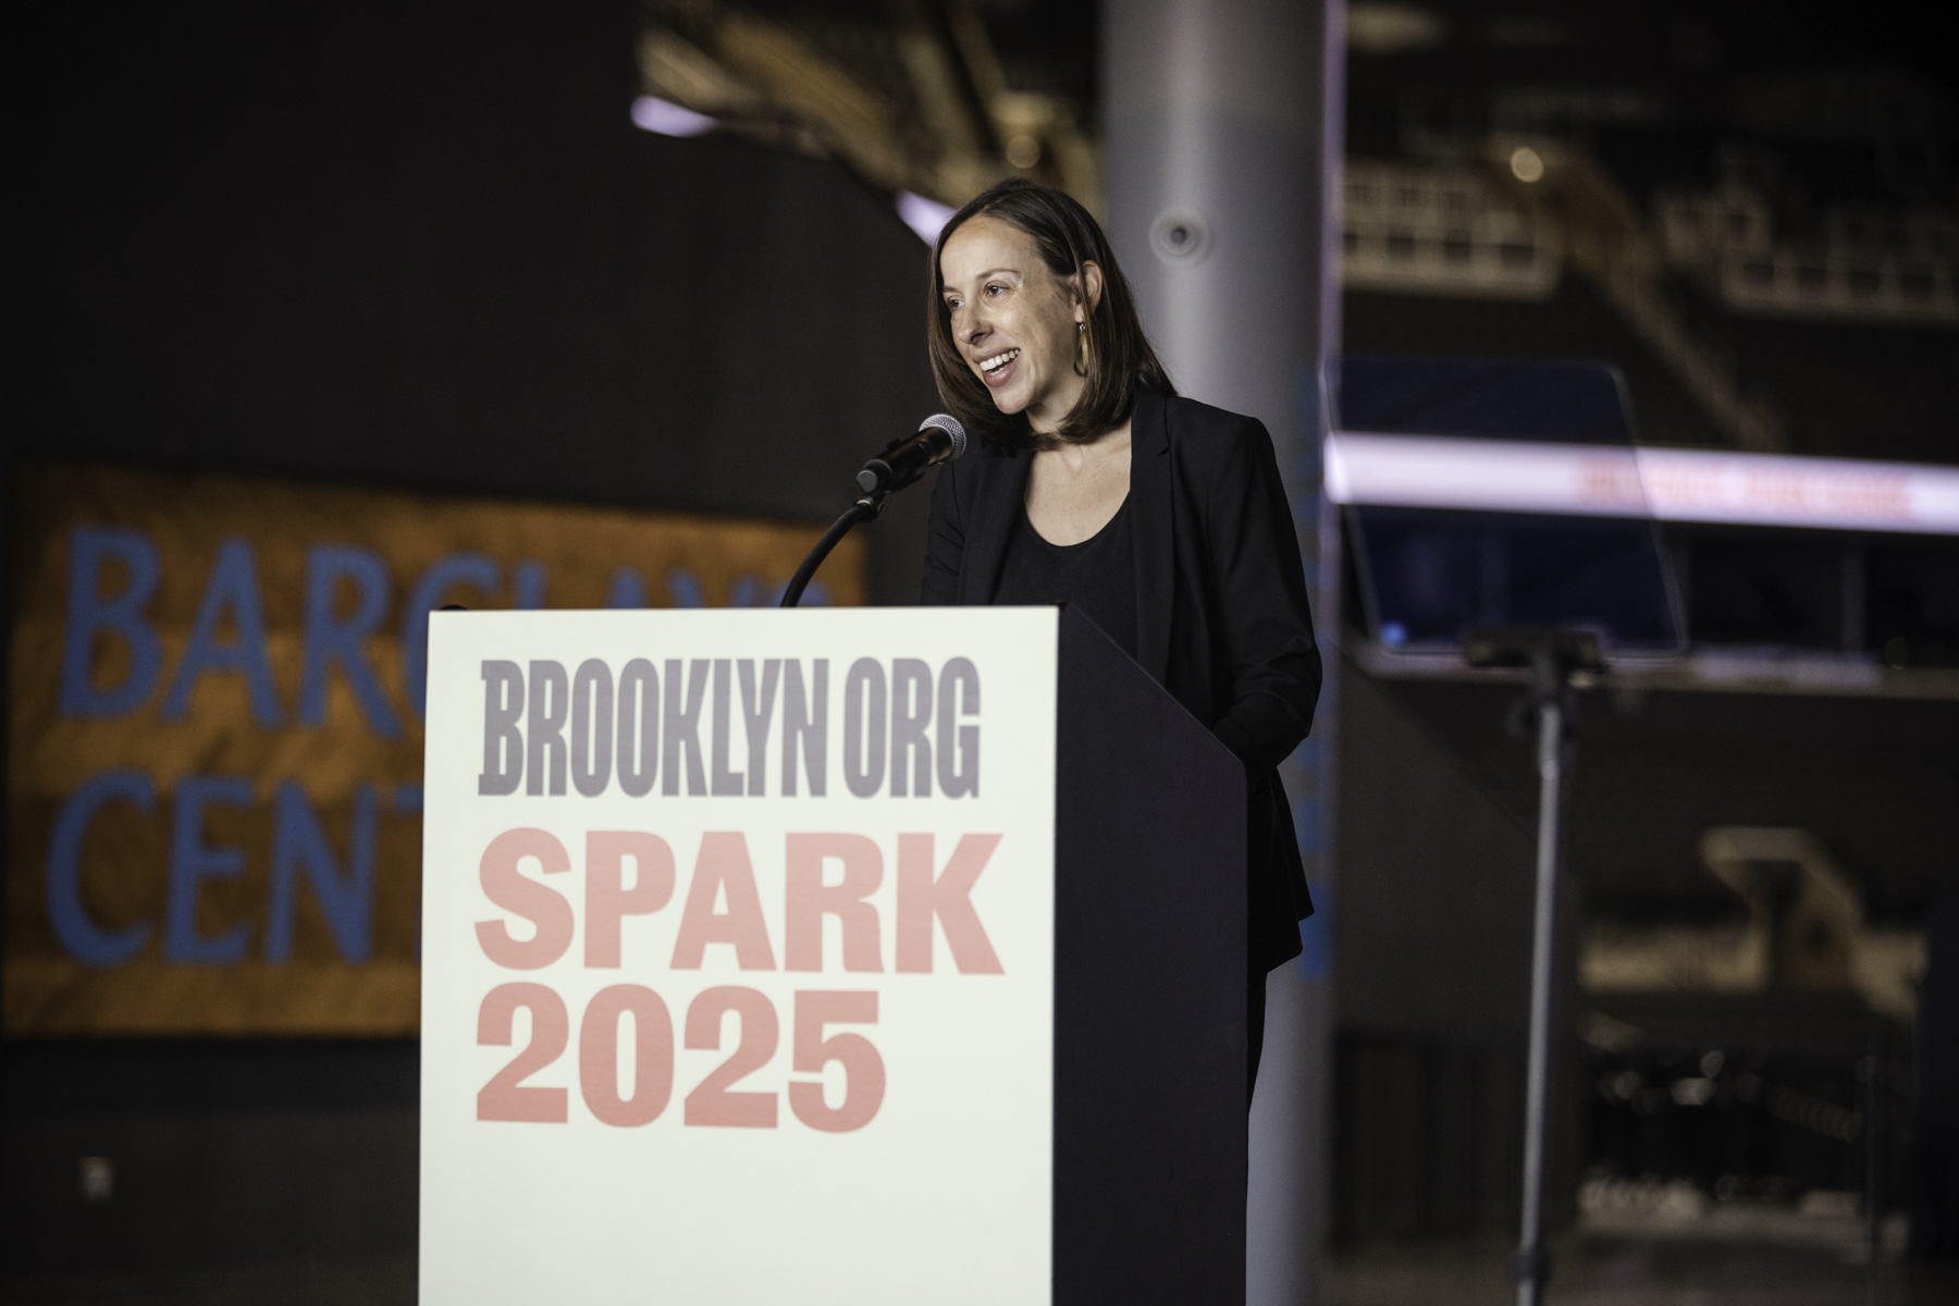
<instances>
[{"instance_id":1,"label":"whole podium with white printed front and black side","mask_svg":"<svg viewBox=\"0 0 1959 1306\"><path fill-rule=\"evenodd\" d=\"M1242 1302L1240 764L1075 609L429 621L421 1300Z\"/></svg>"}]
</instances>

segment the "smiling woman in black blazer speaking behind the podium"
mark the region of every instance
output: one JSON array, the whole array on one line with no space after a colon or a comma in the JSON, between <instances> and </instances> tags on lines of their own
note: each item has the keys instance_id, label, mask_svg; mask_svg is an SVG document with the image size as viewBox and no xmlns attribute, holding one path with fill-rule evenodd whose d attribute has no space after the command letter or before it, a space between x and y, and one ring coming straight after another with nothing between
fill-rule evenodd
<instances>
[{"instance_id":1,"label":"smiling woman in black blazer speaking behind the podium","mask_svg":"<svg viewBox=\"0 0 1959 1306\"><path fill-rule=\"evenodd\" d=\"M1177 397L1101 227L1019 178L940 231L931 352L981 454L938 472L925 603L1075 603L1244 762L1250 1095L1266 971L1313 912L1275 768L1320 691L1271 439Z\"/></svg>"}]
</instances>

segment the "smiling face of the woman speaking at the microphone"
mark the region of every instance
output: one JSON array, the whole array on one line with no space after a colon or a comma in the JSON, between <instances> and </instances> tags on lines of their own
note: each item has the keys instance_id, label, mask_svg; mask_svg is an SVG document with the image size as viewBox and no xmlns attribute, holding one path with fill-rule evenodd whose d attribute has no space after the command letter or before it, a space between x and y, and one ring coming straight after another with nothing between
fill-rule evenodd
<instances>
[{"instance_id":1,"label":"smiling face of the woman speaking at the microphone","mask_svg":"<svg viewBox=\"0 0 1959 1306\"><path fill-rule=\"evenodd\" d=\"M1075 323L1085 303L1068 280L1054 276L1034 239L999 221L974 217L938 255L952 339L993 407L1027 413L1034 431L1054 431L1085 386L1075 376ZM1083 266L1089 294L1101 290L1101 268Z\"/></svg>"}]
</instances>

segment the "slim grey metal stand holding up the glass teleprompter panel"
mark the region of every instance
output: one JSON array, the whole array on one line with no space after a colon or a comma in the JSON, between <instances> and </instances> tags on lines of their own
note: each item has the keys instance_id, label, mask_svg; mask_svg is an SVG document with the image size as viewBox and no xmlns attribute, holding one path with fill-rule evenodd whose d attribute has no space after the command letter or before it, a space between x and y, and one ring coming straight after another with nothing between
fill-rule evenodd
<instances>
[{"instance_id":1,"label":"slim grey metal stand holding up the glass teleprompter panel","mask_svg":"<svg viewBox=\"0 0 1959 1306\"><path fill-rule=\"evenodd\" d=\"M1463 636L1469 666L1530 668L1524 699L1538 721L1538 897L1530 934L1530 1067L1524 1087L1524 1210L1516 1239L1516 1306L1542 1306L1552 1277L1544 1245L1544 1151L1550 1134L1552 977L1557 946L1559 816L1571 766L1573 672L1597 672L1599 638L1587 630L1483 629Z\"/></svg>"}]
</instances>

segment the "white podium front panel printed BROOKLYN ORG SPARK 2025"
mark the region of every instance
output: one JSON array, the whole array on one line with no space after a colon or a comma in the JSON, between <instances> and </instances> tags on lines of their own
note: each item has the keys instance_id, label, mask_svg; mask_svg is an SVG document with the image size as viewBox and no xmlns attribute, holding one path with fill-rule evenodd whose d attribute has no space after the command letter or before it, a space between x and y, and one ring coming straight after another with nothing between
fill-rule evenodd
<instances>
[{"instance_id":1,"label":"white podium front panel printed BROOKLYN ORG SPARK 2025","mask_svg":"<svg viewBox=\"0 0 1959 1306\"><path fill-rule=\"evenodd\" d=\"M429 621L421 1300L1048 1302L1054 609Z\"/></svg>"}]
</instances>

